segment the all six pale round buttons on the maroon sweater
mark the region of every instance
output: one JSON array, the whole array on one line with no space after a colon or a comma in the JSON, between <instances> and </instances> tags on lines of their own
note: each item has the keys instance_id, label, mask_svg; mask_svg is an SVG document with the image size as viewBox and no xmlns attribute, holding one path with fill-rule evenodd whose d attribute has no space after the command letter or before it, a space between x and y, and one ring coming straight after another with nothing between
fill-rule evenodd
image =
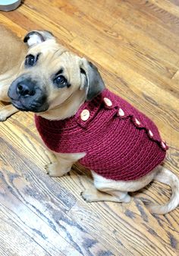
<instances>
[{"instance_id":1,"label":"all six pale round buttons on the maroon sweater","mask_svg":"<svg viewBox=\"0 0 179 256\"><path fill-rule=\"evenodd\" d=\"M112 106L112 102L111 100L109 100L108 98L104 98L104 103L106 106ZM83 111L81 112L80 114L80 118L82 121L87 121L89 119L89 115L90 115L90 112L88 109L83 109ZM121 117L124 117L125 113L124 113L124 110L123 109L118 109L118 115L121 116ZM135 123L137 126L140 126L140 121L138 119L135 119ZM149 134L149 137L153 137L153 133L152 131L148 131L148 134ZM165 144L165 141L161 141L161 145L164 149L166 149L166 144Z\"/></svg>"}]
</instances>

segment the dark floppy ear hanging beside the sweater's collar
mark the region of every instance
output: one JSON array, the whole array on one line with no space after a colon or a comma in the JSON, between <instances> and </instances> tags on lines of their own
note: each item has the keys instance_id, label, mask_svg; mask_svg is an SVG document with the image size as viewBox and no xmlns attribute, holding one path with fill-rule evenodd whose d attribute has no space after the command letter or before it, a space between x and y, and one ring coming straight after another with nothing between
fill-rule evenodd
<instances>
[{"instance_id":1,"label":"dark floppy ear hanging beside the sweater's collar","mask_svg":"<svg viewBox=\"0 0 179 256\"><path fill-rule=\"evenodd\" d=\"M86 100L92 100L105 89L105 84L99 74L98 68L93 63L82 58L80 62L81 86L80 90L86 90Z\"/></svg>"}]
</instances>

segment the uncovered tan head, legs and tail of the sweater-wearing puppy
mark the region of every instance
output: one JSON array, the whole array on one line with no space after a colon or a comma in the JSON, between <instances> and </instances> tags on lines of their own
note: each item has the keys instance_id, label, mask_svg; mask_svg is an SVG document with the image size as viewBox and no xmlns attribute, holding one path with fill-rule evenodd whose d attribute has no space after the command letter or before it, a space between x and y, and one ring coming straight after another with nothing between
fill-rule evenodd
<instances>
[{"instance_id":1,"label":"uncovered tan head, legs and tail of the sweater-wearing puppy","mask_svg":"<svg viewBox=\"0 0 179 256\"><path fill-rule=\"evenodd\" d=\"M24 64L20 66L19 76L8 92L17 109L36 112L49 120L68 119L75 115L86 100L92 100L104 89L97 68L85 58L80 58L59 45L51 33L33 31L27 34L24 42L30 49ZM86 119L86 115L83 119ZM55 153L56 161L47 166L47 171L51 176L62 176L85 155L86 152ZM97 189L82 193L88 202L127 203L130 201L128 192L137 191L155 179L170 185L172 196L167 204L149 206L149 210L152 213L168 213L179 204L179 180L162 166L141 179L129 182L105 179L93 170L92 173Z\"/></svg>"}]
</instances>

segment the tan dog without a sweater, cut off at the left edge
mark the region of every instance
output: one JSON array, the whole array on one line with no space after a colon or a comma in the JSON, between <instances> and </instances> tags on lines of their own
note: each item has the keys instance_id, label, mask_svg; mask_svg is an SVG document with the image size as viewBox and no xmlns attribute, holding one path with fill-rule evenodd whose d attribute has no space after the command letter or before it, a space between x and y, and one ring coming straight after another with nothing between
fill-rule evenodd
<instances>
[{"instance_id":1,"label":"tan dog without a sweater, cut off at the left edge","mask_svg":"<svg viewBox=\"0 0 179 256\"><path fill-rule=\"evenodd\" d=\"M10 103L8 88L17 77L20 65L27 52L27 46L11 30L0 26L0 100ZM7 105L0 109L0 121L5 121L17 112L14 106Z\"/></svg>"}]
</instances>

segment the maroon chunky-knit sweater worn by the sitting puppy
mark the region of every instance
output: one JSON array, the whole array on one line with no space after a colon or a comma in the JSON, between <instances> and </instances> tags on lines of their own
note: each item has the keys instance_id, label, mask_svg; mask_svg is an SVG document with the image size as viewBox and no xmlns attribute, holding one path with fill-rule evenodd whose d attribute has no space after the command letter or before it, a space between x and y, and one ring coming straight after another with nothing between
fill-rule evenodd
<instances>
[{"instance_id":1,"label":"maroon chunky-knit sweater worn by the sitting puppy","mask_svg":"<svg viewBox=\"0 0 179 256\"><path fill-rule=\"evenodd\" d=\"M86 121L81 118L84 109L89 110ZM86 152L79 162L106 179L140 179L164 160L168 149L146 115L107 89L69 119L36 115L35 121L47 147L58 153Z\"/></svg>"}]
</instances>

